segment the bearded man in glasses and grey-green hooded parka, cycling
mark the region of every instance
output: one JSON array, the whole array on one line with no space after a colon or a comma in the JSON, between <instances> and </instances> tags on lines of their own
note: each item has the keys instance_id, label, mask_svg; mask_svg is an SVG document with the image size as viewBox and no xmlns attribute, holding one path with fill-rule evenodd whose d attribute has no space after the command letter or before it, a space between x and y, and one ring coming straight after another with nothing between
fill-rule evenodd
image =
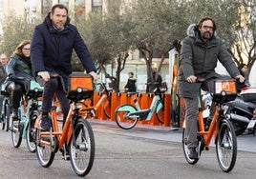
<instances>
[{"instance_id":1,"label":"bearded man in glasses and grey-green hooded parka, cycling","mask_svg":"<svg viewBox=\"0 0 256 179\"><path fill-rule=\"evenodd\" d=\"M182 42L181 66L179 70L179 95L184 98L186 108L186 131L189 157L195 159L197 153L197 119L199 89L207 88L206 84L195 83L197 78L204 78L213 84L214 79L221 78L215 72L219 60L232 78L244 82L231 55L225 49L221 39L215 36L216 24L209 17L203 18L198 25L188 29L188 37ZM213 85L210 85L212 88ZM212 91L212 89L206 89ZM214 106L214 105L212 105ZM213 109L212 109L213 110Z\"/></svg>"}]
</instances>

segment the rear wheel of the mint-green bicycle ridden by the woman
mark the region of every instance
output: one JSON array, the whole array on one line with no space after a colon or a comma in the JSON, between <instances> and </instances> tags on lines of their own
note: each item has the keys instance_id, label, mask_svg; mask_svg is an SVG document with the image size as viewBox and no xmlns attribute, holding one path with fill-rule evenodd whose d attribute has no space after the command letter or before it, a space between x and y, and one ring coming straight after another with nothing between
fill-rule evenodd
<instances>
[{"instance_id":1,"label":"rear wheel of the mint-green bicycle ridden by the woman","mask_svg":"<svg viewBox=\"0 0 256 179\"><path fill-rule=\"evenodd\" d=\"M19 148L22 141L23 125L20 121L11 122L11 141L14 148Z\"/></svg>"}]
</instances>

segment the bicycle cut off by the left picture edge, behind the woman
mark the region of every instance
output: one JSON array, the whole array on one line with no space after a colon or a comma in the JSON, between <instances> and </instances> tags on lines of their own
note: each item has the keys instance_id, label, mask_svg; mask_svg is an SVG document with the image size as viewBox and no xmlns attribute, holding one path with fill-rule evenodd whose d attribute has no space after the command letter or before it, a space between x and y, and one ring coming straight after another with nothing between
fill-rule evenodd
<instances>
[{"instance_id":1,"label":"bicycle cut off by the left picture edge, behind the woman","mask_svg":"<svg viewBox=\"0 0 256 179\"><path fill-rule=\"evenodd\" d=\"M1 110L1 125L2 129L5 129L6 131L9 131L10 126L10 93L5 89L5 85L1 86L1 95L3 96L3 104L2 104L2 110Z\"/></svg>"}]
</instances>

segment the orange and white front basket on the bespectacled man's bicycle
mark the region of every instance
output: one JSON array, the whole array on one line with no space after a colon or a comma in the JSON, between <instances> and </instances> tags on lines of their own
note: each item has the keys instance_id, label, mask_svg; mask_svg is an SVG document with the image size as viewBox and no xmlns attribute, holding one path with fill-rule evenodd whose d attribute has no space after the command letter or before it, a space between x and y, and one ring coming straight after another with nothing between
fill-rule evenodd
<instances>
[{"instance_id":1,"label":"orange and white front basket on the bespectacled man's bicycle","mask_svg":"<svg viewBox=\"0 0 256 179\"><path fill-rule=\"evenodd\" d=\"M234 80L217 80L214 82L213 101L224 103L234 100L236 96L237 89Z\"/></svg>"}]
</instances>

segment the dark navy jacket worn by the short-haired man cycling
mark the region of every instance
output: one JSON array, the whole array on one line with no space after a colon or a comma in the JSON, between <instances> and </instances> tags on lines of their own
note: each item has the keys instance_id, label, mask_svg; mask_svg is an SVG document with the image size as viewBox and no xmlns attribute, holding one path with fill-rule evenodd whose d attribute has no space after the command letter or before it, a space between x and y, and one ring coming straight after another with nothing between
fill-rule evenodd
<instances>
[{"instance_id":1,"label":"dark navy jacket worn by the short-haired man cycling","mask_svg":"<svg viewBox=\"0 0 256 179\"><path fill-rule=\"evenodd\" d=\"M76 27L70 24L70 19L68 18L64 30L59 31L53 28L49 13L44 22L35 27L32 34L33 72L35 75L44 70L56 72L63 77L67 85L67 78L72 73L73 50L88 73L96 71L92 56Z\"/></svg>"}]
</instances>

